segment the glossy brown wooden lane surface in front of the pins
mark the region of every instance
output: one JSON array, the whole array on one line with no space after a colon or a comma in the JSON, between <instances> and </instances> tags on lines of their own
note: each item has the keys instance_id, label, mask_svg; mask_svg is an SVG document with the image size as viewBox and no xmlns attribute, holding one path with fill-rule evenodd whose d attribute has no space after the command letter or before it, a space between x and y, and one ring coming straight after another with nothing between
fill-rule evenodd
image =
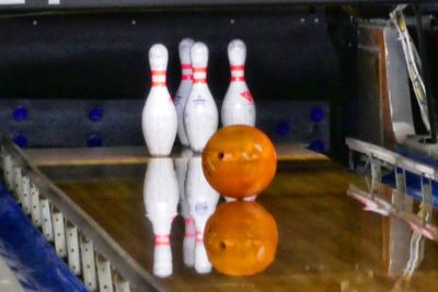
<instances>
[{"instance_id":1,"label":"glossy brown wooden lane surface in front of the pins","mask_svg":"<svg viewBox=\"0 0 438 292\"><path fill-rule=\"evenodd\" d=\"M43 167L141 267L152 273L153 234L145 217L146 164ZM422 240L424 259L410 280L405 222L365 212L346 196L362 177L334 163L281 164L258 198L276 219L275 262L253 277L197 275L183 264L184 222L172 226L173 276L158 279L162 291L438 291L438 245ZM390 189L384 190L391 194Z\"/></svg>"}]
</instances>

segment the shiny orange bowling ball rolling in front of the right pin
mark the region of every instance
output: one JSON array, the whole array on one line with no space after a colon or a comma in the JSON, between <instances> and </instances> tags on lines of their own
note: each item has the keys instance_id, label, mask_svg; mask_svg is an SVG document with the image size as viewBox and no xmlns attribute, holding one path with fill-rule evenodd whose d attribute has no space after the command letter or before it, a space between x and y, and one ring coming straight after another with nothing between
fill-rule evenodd
<instances>
[{"instance_id":1,"label":"shiny orange bowling ball rolling in front of the right pin","mask_svg":"<svg viewBox=\"0 0 438 292\"><path fill-rule=\"evenodd\" d=\"M210 185L223 196L258 195L273 180L277 153L261 130L229 126L217 131L203 152L203 170Z\"/></svg>"}]
</instances>

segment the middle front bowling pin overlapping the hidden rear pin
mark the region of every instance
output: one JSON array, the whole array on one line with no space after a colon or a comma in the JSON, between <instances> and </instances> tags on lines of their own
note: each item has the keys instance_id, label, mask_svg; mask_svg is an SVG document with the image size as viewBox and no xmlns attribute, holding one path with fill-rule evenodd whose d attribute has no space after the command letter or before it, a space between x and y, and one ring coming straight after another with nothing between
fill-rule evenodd
<instances>
[{"instance_id":1,"label":"middle front bowling pin overlapping the hidden rear pin","mask_svg":"<svg viewBox=\"0 0 438 292\"><path fill-rule=\"evenodd\" d=\"M218 108L207 85L207 46L195 43L191 59L193 86L184 108L184 126L192 150L201 152L218 129Z\"/></svg>"}]
</instances>

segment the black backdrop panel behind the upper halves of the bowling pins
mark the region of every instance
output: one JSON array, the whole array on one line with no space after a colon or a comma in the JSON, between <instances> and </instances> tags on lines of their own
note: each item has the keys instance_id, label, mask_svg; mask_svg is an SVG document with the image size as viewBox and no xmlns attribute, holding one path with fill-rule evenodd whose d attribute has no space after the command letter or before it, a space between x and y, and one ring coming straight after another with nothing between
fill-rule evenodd
<instances>
[{"instance_id":1,"label":"black backdrop panel behind the upper halves of the bowling pins","mask_svg":"<svg viewBox=\"0 0 438 292\"><path fill-rule=\"evenodd\" d=\"M0 19L0 97L142 98L154 43L170 51L174 92L177 44L186 36L208 45L218 98L229 83L227 45L237 37L247 45L246 79L256 98L326 100L341 90L324 11L283 7Z\"/></svg>"}]
</instances>

